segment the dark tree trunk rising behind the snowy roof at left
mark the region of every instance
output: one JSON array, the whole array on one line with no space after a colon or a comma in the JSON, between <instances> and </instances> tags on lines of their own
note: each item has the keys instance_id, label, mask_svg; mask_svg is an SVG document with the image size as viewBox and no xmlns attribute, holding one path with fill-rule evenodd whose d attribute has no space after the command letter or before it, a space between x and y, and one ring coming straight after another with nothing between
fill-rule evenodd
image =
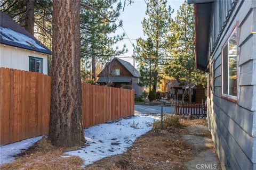
<instances>
[{"instance_id":1,"label":"dark tree trunk rising behind the snowy roof at left","mask_svg":"<svg viewBox=\"0 0 256 170\"><path fill-rule=\"evenodd\" d=\"M27 0L24 28L34 36L35 27L35 5L34 0Z\"/></svg>"}]
</instances>

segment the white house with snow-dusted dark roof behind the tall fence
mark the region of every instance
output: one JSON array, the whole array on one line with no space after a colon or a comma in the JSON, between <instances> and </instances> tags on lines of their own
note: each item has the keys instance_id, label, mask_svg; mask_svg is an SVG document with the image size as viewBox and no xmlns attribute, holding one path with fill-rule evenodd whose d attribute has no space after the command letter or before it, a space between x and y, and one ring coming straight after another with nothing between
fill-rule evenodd
<instances>
[{"instance_id":1,"label":"white house with snow-dusted dark roof behind the tall fence","mask_svg":"<svg viewBox=\"0 0 256 170\"><path fill-rule=\"evenodd\" d=\"M51 50L3 12L0 33L0 67L48 73Z\"/></svg>"}]
</instances>

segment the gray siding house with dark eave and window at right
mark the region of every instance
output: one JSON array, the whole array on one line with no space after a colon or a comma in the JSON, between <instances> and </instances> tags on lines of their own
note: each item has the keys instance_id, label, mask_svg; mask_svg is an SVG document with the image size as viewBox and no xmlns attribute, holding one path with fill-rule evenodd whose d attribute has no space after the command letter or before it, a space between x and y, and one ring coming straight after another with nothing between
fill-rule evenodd
<instances>
[{"instance_id":1,"label":"gray siding house with dark eave and window at right","mask_svg":"<svg viewBox=\"0 0 256 170\"><path fill-rule=\"evenodd\" d=\"M207 116L222 169L256 169L256 1L195 4L197 69L209 73Z\"/></svg>"}]
</instances>

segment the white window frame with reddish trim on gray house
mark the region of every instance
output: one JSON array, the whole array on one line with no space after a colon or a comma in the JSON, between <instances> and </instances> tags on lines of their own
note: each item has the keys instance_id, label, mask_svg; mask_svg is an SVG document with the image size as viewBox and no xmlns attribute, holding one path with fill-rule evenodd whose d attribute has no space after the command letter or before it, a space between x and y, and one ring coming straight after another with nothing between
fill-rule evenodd
<instances>
[{"instance_id":1,"label":"white window frame with reddish trim on gray house","mask_svg":"<svg viewBox=\"0 0 256 170\"><path fill-rule=\"evenodd\" d=\"M233 33L236 31L236 56L237 56L237 70L236 70L236 75L237 75L237 96L233 96L233 95L228 95L229 94L229 81L227 82L227 86L228 86L228 94L223 94L223 49L227 46L228 48L228 53L229 53L229 45L228 45L228 41L229 39L231 38L231 36L233 35ZM238 59L239 59L239 50L238 50L238 31L239 29L237 28L237 24L234 26L233 30L231 31L226 43L222 46L221 48L221 98L224 98L224 99L227 99L227 100L230 100L230 101L233 101L234 103L237 103L238 102L238 96L239 96L239 86L238 86L238 78L239 78L239 68L238 68ZM228 64L229 64L229 58L228 58ZM228 67L228 77L229 77L229 65L227 65ZM227 80L226 80L227 81Z\"/></svg>"}]
</instances>

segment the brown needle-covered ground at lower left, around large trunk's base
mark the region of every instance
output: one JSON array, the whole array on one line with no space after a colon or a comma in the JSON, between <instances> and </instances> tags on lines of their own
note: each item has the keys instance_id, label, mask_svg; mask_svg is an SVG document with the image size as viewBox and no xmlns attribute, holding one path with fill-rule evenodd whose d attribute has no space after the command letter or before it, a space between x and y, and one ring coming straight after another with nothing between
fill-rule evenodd
<instances>
[{"instance_id":1,"label":"brown needle-covered ground at lower left, around large trunk's base","mask_svg":"<svg viewBox=\"0 0 256 170\"><path fill-rule=\"evenodd\" d=\"M57 148L51 145L50 140L43 137L34 146L19 154L19 158L9 164L4 164L0 169L83 169L83 160L76 156L66 156L63 151L74 148Z\"/></svg>"}]
</instances>

